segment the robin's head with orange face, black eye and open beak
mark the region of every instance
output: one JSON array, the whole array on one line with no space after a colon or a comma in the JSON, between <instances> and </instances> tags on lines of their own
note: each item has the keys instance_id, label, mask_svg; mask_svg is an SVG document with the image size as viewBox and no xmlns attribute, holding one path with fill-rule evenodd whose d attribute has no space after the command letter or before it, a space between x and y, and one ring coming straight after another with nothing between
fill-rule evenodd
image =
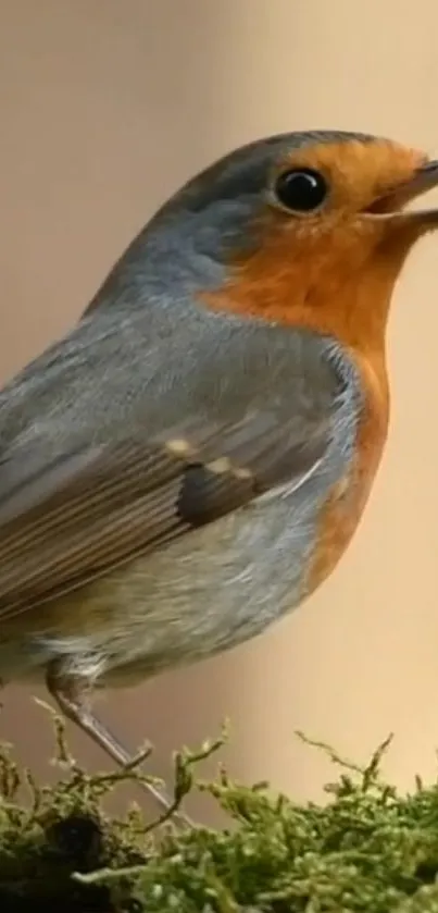
<instances>
[{"instance_id":1,"label":"robin's head with orange face, black eye and open beak","mask_svg":"<svg viewBox=\"0 0 438 913\"><path fill-rule=\"evenodd\" d=\"M389 139L274 136L190 181L149 238L160 226L167 239L176 233L193 295L208 307L316 324L354 344L365 326L384 332L409 250L438 226L438 209L406 208L436 185L438 161Z\"/></svg>"}]
</instances>

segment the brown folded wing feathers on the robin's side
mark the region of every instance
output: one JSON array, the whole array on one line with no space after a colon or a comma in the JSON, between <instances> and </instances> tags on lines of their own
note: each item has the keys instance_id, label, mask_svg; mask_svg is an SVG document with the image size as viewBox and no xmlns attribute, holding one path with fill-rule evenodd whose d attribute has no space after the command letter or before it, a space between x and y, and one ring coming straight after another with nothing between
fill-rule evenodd
<instances>
[{"instance_id":1,"label":"brown folded wing feathers on the robin's side","mask_svg":"<svg viewBox=\"0 0 438 913\"><path fill-rule=\"evenodd\" d=\"M317 467L323 410L275 409L160 439L58 454L15 453L0 466L0 621L58 600L115 567L215 522ZM8 485L8 482L11 485Z\"/></svg>"}]
</instances>

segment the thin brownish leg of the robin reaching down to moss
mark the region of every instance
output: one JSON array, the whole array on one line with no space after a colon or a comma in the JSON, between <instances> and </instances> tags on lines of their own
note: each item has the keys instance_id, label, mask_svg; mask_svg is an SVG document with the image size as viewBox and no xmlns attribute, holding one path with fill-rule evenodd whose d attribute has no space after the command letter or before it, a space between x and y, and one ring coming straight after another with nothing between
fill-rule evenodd
<instances>
[{"instance_id":1,"label":"thin brownish leg of the robin reaching down to moss","mask_svg":"<svg viewBox=\"0 0 438 913\"><path fill-rule=\"evenodd\" d=\"M130 755L118 739L91 713L85 701L84 684L80 678L65 675L60 664L52 663L46 674L46 684L48 691L54 698L59 708L67 719L75 723L83 732L86 732L121 767L133 767L136 761L135 756ZM146 752L149 748L152 750L152 745L147 743ZM152 795L164 812L170 810L173 801L164 790L159 789L153 784L139 782L139 786L149 795ZM193 826L192 822L179 811L176 811L173 817L178 824L183 824L186 827Z\"/></svg>"}]
</instances>

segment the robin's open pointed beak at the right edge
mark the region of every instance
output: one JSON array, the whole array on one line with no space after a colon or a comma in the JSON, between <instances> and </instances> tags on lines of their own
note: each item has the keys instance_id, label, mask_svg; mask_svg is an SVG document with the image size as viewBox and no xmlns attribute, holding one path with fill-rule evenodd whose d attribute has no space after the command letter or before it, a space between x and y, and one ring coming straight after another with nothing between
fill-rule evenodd
<instances>
[{"instance_id":1,"label":"robin's open pointed beak at the right edge","mask_svg":"<svg viewBox=\"0 0 438 913\"><path fill-rule=\"evenodd\" d=\"M408 203L434 187L438 187L438 159L425 162L409 181L379 197L363 214L370 219L421 223L424 227L438 226L438 207L405 209Z\"/></svg>"}]
</instances>

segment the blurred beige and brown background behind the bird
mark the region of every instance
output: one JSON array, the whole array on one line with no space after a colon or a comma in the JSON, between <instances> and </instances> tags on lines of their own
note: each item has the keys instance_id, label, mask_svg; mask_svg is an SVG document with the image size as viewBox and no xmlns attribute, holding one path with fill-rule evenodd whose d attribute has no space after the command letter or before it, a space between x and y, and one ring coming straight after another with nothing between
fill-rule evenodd
<instances>
[{"instance_id":1,"label":"blurred beige and brown background behind the bird","mask_svg":"<svg viewBox=\"0 0 438 913\"><path fill-rule=\"evenodd\" d=\"M438 151L437 35L433 0L0 0L1 375L66 330L154 207L230 147L340 127ZM331 580L258 642L103 701L129 745L151 736L155 769L228 715L231 770L297 797L333 774L298 727L358 760L393 730L390 775L435 774L437 245L397 292L390 442ZM0 729L48 773L27 691L5 692Z\"/></svg>"}]
</instances>

